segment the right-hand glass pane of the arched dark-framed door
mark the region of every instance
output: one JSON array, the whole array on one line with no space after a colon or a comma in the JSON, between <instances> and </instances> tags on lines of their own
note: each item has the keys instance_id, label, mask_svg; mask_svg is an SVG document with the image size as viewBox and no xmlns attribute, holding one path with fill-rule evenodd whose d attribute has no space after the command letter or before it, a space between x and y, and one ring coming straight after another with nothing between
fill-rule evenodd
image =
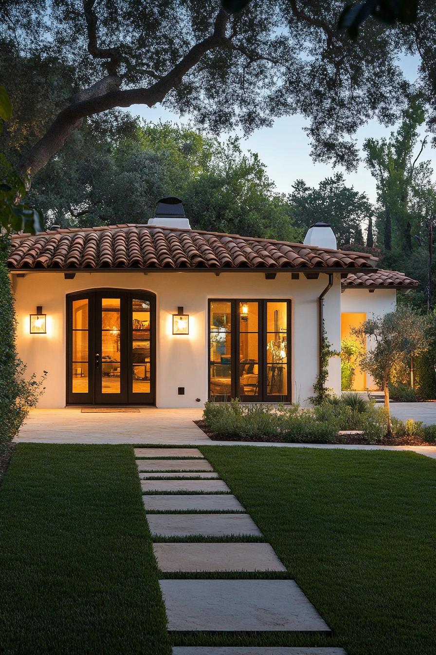
<instances>
[{"instance_id":1,"label":"right-hand glass pane of the arched dark-framed door","mask_svg":"<svg viewBox=\"0 0 436 655\"><path fill-rule=\"evenodd\" d=\"M151 384L150 301L132 299L132 391L149 394Z\"/></svg>"}]
</instances>

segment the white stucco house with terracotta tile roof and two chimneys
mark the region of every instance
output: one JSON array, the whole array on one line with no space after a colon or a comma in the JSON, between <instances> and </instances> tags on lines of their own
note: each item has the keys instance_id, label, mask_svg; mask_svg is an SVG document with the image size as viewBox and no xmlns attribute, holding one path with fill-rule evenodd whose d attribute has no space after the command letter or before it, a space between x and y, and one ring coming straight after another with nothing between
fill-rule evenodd
<instances>
[{"instance_id":1,"label":"white stucco house with terracotta tile roof and two chimneys","mask_svg":"<svg viewBox=\"0 0 436 655\"><path fill-rule=\"evenodd\" d=\"M337 250L324 223L303 244L197 231L178 198L160 200L147 225L14 234L8 266L18 352L48 371L40 407L304 403L323 320L339 350L418 284ZM341 392L339 358L327 385Z\"/></svg>"}]
</instances>

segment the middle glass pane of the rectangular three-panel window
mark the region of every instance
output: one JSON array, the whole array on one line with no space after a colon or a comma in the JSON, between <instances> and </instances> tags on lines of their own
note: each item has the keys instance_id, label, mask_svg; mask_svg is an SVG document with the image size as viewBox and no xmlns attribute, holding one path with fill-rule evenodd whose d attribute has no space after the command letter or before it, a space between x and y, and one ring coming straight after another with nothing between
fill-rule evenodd
<instances>
[{"instance_id":1,"label":"middle glass pane of the rectangular three-panel window","mask_svg":"<svg viewBox=\"0 0 436 655\"><path fill-rule=\"evenodd\" d=\"M259 304L241 302L239 314L239 395L259 394Z\"/></svg>"}]
</instances>

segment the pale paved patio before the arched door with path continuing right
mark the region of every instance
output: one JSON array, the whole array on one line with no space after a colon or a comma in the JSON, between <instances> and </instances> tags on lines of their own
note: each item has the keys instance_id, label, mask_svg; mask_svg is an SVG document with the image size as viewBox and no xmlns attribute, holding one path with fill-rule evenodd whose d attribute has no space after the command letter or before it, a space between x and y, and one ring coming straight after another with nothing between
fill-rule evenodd
<instances>
[{"instance_id":1,"label":"pale paved patio before the arched door with path continuing right","mask_svg":"<svg viewBox=\"0 0 436 655\"><path fill-rule=\"evenodd\" d=\"M436 403L396 403L436 412ZM252 445L285 448L338 448L345 450L414 451L436 458L436 446L372 446L318 443L263 443L263 441L212 441L193 421L201 419L202 409L156 409L135 413L82 413L77 408L33 409L15 441L41 443L134 443L162 445ZM418 418L416 417L416 420ZM436 422L436 418L435 418Z\"/></svg>"}]
</instances>

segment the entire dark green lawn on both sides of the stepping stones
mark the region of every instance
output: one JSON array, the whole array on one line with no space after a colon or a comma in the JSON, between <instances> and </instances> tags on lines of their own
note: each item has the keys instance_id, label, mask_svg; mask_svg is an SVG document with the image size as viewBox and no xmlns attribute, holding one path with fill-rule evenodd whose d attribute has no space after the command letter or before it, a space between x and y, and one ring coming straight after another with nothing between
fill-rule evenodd
<instances>
[{"instance_id":1,"label":"entire dark green lawn on both sides of the stepping stones","mask_svg":"<svg viewBox=\"0 0 436 655\"><path fill-rule=\"evenodd\" d=\"M333 637L191 634L174 643L433 655L435 462L386 451L201 450ZM0 552L1 652L170 655L130 445L18 445L0 486Z\"/></svg>"}]
</instances>

